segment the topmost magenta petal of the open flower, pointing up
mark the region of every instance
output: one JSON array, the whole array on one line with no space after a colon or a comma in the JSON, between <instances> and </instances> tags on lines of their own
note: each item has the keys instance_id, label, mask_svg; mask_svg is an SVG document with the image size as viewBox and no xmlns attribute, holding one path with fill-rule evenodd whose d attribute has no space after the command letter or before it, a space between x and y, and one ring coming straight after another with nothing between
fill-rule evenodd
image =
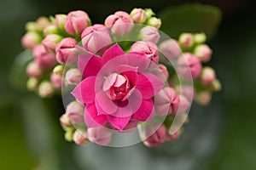
<instances>
[{"instance_id":1,"label":"topmost magenta petal of the open flower, pointing up","mask_svg":"<svg viewBox=\"0 0 256 170\"><path fill-rule=\"evenodd\" d=\"M116 43L111 48L108 48L108 50L106 50L106 52L102 55L103 64L105 64L109 60L111 60L119 55L123 55L123 54L125 54L125 52L123 51L122 48L119 47L119 44Z\"/></svg>"}]
</instances>

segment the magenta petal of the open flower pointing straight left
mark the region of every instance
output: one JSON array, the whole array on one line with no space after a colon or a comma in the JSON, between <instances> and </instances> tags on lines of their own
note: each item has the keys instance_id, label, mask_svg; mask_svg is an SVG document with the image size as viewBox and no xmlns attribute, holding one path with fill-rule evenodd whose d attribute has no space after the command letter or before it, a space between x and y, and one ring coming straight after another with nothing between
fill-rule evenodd
<instances>
[{"instance_id":1,"label":"magenta petal of the open flower pointing straight left","mask_svg":"<svg viewBox=\"0 0 256 170\"><path fill-rule=\"evenodd\" d=\"M73 96L81 103L89 104L95 99L96 77L87 77L73 89Z\"/></svg>"}]
</instances>

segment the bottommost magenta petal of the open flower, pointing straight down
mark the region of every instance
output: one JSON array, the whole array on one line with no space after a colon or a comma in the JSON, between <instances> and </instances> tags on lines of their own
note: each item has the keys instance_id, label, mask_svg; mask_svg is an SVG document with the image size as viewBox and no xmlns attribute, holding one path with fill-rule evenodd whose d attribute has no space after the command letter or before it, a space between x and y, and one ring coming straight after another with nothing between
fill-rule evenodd
<instances>
[{"instance_id":1,"label":"bottommost magenta petal of the open flower, pointing straight down","mask_svg":"<svg viewBox=\"0 0 256 170\"><path fill-rule=\"evenodd\" d=\"M130 119L131 119L131 116L117 117L117 116L108 115L108 122L110 122L113 125L113 127L116 127L121 132L126 127Z\"/></svg>"}]
</instances>

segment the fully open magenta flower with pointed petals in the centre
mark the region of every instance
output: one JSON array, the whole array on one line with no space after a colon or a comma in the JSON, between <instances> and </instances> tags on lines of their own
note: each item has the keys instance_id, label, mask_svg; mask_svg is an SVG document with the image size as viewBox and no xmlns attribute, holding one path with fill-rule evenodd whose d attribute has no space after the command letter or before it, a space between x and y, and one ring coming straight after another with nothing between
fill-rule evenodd
<instances>
[{"instance_id":1,"label":"fully open magenta flower with pointed petals in the centre","mask_svg":"<svg viewBox=\"0 0 256 170\"><path fill-rule=\"evenodd\" d=\"M109 122L122 131L131 120L146 122L154 113L152 97L164 86L160 79L146 72L150 59L144 54L128 53L118 44L99 57L79 56L79 70L84 80L73 96L86 104L84 121L88 127Z\"/></svg>"}]
</instances>

